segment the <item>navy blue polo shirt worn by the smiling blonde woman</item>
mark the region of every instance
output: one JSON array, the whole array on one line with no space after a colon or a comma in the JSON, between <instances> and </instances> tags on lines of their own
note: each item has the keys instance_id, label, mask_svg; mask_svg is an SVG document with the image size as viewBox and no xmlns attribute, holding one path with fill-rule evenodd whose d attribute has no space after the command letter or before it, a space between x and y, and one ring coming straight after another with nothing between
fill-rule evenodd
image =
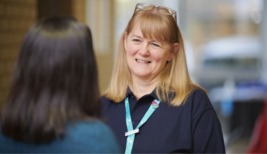
<instances>
[{"instance_id":1,"label":"navy blue polo shirt worn by the smiling blonde woman","mask_svg":"<svg viewBox=\"0 0 267 154\"><path fill-rule=\"evenodd\" d=\"M136 99L127 91L130 114L135 129L154 99L151 94ZM101 97L102 118L115 132L123 151L126 148L126 111L124 101L114 103ZM185 105L172 107L161 102L135 134L132 153L225 153L221 123L208 96L194 90Z\"/></svg>"}]
</instances>

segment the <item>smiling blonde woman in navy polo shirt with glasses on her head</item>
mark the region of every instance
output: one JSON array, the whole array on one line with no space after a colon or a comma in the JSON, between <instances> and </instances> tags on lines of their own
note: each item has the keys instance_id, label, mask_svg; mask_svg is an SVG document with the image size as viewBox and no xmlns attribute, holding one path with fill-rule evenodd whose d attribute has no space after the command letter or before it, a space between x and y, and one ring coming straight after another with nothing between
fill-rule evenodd
<instances>
[{"instance_id":1,"label":"smiling blonde woman in navy polo shirt with glasses on her head","mask_svg":"<svg viewBox=\"0 0 267 154\"><path fill-rule=\"evenodd\" d=\"M125 153L225 153L206 90L190 80L176 11L136 4L122 34L102 117Z\"/></svg>"}]
</instances>

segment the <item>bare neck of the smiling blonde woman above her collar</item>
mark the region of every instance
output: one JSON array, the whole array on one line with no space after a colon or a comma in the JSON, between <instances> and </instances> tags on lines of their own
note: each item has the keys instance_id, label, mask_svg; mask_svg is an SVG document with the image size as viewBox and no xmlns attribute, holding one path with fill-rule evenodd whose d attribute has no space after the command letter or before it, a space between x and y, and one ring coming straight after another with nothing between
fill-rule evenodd
<instances>
[{"instance_id":1,"label":"bare neck of the smiling blonde woman above her collar","mask_svg":"<svg viewBox=\"0 0 267 154\"><path fill-rule=\"evenodd\" d=\"M143 79L138 77L133 77L133 93L136 96L136 99L140 97L150 94L158 85L158 77L150 78L150 79Z\"/></svg>"}]
</instances>

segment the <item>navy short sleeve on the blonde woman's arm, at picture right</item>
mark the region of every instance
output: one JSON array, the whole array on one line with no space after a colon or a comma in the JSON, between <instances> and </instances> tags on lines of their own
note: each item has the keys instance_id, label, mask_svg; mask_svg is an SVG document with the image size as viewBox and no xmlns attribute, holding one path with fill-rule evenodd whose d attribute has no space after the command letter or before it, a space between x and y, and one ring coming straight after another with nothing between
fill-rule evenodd
<instances>
[{"instance_id":1,"label":"navy short sleeve on the blonde woman's arm, at picture right","mask_svg":"<svg viewBox=\"0 0 267 154\"><path fill-rule=\"evenodd\" d=\"M225 153L221 123L208 96L195 94L192 117L193 153Z\"/></svg>"}]
</instances>

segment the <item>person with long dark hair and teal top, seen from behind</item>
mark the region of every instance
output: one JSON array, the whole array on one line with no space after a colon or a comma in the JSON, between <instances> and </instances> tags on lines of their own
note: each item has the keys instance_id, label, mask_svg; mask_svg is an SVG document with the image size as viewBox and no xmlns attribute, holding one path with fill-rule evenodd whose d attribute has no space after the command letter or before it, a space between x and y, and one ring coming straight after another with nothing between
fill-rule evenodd
<instances>
[{"instance_id":1,"label":"person with long dark hair and teal top, seen from behind","mask_svg":"<svg viewBox=\"0 0 267 154\"><path fill-rule=\"evenodd\" d=\"M38 21L3 106L0 153L119 153L99 97L90 29L71 17Z\"/></svg>"}]
</instances>

